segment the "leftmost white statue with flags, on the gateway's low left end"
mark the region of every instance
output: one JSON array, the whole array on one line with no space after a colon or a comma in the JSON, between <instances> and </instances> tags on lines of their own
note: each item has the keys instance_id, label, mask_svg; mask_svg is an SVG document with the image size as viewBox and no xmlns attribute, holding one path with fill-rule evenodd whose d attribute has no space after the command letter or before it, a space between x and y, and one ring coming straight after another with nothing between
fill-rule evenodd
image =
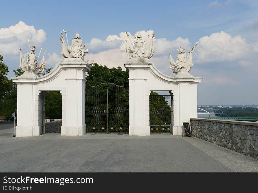
<instances>
[{"instance_id":1,"label":"leftmost white statue with flags, on the gateway's low left end","mask_svg":"<svg viewBox=\"0 0 258 193\"><path fill-rule=\"evenodd\" d=\"M39 74L44 72L45 69L45 53L44 56L40 62L40 65L38 65L38 59L35 54L35 48L36 46L30 46L30 40L29 40L29 47L30 47L30 53L27 53L27 61L24 58L24 55L21 51L20 48L20 69L24 71L24 76L25 75L36 75L39 76ZM40 49L40 53L42 51L42 48ZM38 56L40 56L40 53Z\"/></svg>"}]
</instances>

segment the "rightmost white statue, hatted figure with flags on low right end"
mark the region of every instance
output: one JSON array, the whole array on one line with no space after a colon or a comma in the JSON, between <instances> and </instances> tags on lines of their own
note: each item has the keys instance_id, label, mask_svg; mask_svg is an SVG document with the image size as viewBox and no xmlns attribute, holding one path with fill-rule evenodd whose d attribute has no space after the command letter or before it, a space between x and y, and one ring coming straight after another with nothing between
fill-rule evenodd
<instances>
[{"instance_id":1,"label":"rightmost white statue, hatted figure with flags on low right end","mask_svg":"<svg viewBox=\"0 0 258 193\"><path fill-rule=\"evenodd\" d=\"M188 55L186 57L185 48L179 48L177 51L179 51L178 54L176 54L176 61L173 60L171 54L169 53L170 59L169 59L169 65L172 69L173 73L178 75L180 72L187 72L189 73L191 71L191 68L193 66L193 60L192 60L192 53L196 46L198 45L198 42L193 46L192 50L188 52Z\"/></svg>"}]
</instances>

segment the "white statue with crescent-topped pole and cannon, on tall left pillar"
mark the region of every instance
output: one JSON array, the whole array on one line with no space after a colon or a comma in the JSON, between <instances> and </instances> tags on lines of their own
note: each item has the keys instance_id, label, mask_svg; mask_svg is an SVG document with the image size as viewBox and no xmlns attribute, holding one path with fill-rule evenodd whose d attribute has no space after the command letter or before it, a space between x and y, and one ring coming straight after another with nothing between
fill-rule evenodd
<instances>
[{"instance_id":1,"label":"white statue with crescent-topped pole and cannon, on tall left pillar","mask_svg":"<svg viewBox=\"0 0 258 193\"><path fill-rule=\"evenodd\" d=\"M65 32L66 35L66 40L67 40L67 44L64 40L63 37L63 33L61 31L62 34L62 38L60 38L61 42L62 42L62 52L61 55L63 56L63 58L84 58L84 53L88 53L88 50L84 50L85 45L82 45L82 37L79 36L78 32L75 32L75 37L74 40L72 39L72 44L71 46L69 46L68 43L68 38L67 38L67 34L65 30L63 30Z\"/></svg>"}]
</instances>

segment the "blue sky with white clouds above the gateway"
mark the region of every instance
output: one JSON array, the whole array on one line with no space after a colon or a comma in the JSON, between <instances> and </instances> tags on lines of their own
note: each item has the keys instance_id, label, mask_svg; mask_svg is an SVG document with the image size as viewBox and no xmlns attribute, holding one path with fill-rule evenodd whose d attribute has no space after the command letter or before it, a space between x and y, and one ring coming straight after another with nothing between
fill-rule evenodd
<instances>
[{"instance_id":1,"label":"blue sky with white clouds above the gateway","mask_svg":"<svg viewBox=\"0 0 258 193\"><path fill-rule=\"evenodd\" d=\"M258 104L258 1L1 1L1 7L0 54L8 77L19 66L19 48L28 51L28 38L36 53L47 51L47 68L61 60L63 29L69 41L78 31L89 61L123 67L124 32L154 31L151 60L167 75L174 75L168 52L175 58L179 46L189 50L200 42L190 72L203 77L199 105Z\"/></svg>"}]
</instances>

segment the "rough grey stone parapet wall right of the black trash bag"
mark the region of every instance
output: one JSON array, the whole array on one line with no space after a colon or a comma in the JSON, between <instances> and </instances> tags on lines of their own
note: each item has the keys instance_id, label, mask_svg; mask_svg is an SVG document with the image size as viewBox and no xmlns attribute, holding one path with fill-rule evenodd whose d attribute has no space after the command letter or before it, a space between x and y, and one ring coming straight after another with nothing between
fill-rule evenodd
<instances>
[{"instance_id":1,"label":"rough grey stone parapet wall right of the black trash bag","mask_svg":"<svg viewBox=\"0 0 258 193\"><path fill-rule=\"evenodd\" d=\"M258 159L258 123L191 118L194 137Z\"/></svg>"}]
</instances>

